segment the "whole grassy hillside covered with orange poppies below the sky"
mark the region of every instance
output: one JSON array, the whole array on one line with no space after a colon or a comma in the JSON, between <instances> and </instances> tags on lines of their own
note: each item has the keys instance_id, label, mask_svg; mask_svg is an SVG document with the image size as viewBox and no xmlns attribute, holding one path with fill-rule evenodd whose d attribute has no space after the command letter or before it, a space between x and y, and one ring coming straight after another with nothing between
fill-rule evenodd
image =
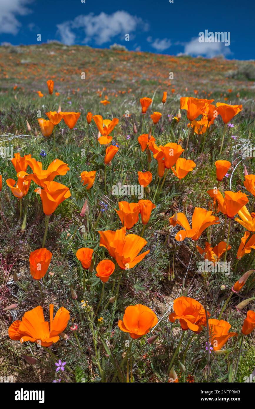
<instances>
[{"instance_id":1,"label":"whole grassy hillside covered with orange poppies below the sky","mask_svg":"<svg viewBox=\"0 0 255 409\"><path fill-rule=\"evenodd\" d=\"M255 376L254 82L236 65L0 47L1 376Z\"/></svg>"}]
</instances>

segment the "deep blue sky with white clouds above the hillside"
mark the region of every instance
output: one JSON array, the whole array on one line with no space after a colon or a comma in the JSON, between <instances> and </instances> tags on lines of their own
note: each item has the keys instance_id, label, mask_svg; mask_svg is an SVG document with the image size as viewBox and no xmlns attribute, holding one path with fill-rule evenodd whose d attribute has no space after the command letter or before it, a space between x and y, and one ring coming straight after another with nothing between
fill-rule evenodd
<instances>
[{"instance_id":1,"label":"deep blue sky with white clouds above the hillside","mask_svg":"<svg viewBox=\"0 0 255 409\"><path fill-rule=\"evenodd\" d=\"M249 60L255 58L254 16L252 0L0 0L0 43L40 44L41 34L42 43L118 43L136 51ZM230 45L200 43L205 30L230 32Z\"/></svg>"}]
</instances>

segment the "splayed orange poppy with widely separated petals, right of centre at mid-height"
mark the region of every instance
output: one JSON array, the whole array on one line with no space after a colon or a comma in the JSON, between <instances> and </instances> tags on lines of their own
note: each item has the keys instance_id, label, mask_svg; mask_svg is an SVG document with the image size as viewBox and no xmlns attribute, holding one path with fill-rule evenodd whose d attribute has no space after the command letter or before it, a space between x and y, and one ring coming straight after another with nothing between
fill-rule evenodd
<instances>
[{"instance_id":1,"label":"splayed orange poppy with widely separated petals, right of centre at mid-height","mask_svg":"<svg viewBox=\"0 0 255 409\"><path fill-rule=\"evenodd\" d=\"M183 241L186 237L192 238L192 240L197 240L203 231L212 225L218 225L219 218L212 215L212 211L207 211L201 207L195 207L192 216L192 229L190 229L189 222L184 213L177 213L177 221L175 224L180 225L185 230L180 230L175 236L177 241ZM170 225L174 225L174 217L170 217Z\"/></svg>"}]
</instances>

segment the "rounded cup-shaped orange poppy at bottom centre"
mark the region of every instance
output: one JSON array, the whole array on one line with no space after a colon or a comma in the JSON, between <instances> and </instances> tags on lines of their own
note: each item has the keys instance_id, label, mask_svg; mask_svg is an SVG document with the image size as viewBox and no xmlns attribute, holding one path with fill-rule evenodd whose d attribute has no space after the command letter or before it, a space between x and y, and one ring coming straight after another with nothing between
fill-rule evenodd
<instances>
[{"instance_id":1,"label":"rounded cup-shaped orange poppy at bottom centre","mask_svg":"<svg viewBox=\"0 0 255 409\"><path fill-rule=\"evenodd\" d=\"M142 304L136 304L125 309L123 321L120 319L118 326L121 331L129 333L131 338L137 339L148 334L157 323L154 311Z\"/></svg>"}]
</instances>

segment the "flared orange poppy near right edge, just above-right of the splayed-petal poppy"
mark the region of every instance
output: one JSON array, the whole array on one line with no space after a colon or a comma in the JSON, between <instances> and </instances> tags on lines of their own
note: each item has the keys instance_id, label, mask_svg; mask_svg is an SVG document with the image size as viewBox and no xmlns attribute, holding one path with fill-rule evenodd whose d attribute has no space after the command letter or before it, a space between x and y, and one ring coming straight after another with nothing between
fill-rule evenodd
<instances>
[{"instance_id":1,"label":"flared orange poppy near right edge, just above-right of the splayed-petal poppy","mask_svg":"<svg viewBox=\"0 0 255 409\"><path fill-rule=\"evenodd\" d=\"M211 198L215 198L218 202L219 210L228 218L233 219L239 210L248 203L248 198L245 193L225 191L225 197L222 196L221 192L217 189L208 190L207 193Z\"/></svg>"}]
</instances>

